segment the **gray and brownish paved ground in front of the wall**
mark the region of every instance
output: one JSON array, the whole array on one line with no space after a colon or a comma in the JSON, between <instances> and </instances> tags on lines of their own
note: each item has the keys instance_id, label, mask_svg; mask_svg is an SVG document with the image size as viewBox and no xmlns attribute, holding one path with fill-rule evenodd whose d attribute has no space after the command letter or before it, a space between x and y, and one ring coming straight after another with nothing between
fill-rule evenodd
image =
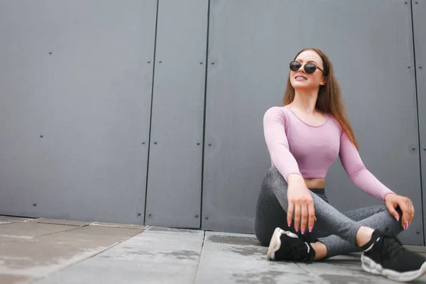
<instances>
[{"instance_id":1,"label":"gray and brownish paved ground in front of the wall","mask_svg":"<svg viewBox=\"0 0 426 284\"><path fill-rule=\"evenodd\" d=\"M306 265L266 251L248 234L0 216L1 284L393 283L357 253Z\"/></svg>"}]
</instances>

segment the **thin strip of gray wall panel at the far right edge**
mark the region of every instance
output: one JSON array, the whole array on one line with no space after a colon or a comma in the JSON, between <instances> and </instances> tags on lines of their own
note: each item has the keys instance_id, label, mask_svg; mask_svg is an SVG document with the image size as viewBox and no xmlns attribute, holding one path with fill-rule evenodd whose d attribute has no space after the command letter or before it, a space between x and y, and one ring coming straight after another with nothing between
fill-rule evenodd
<instances>
[{"instance_id":1,"label":"thin strip of gray wall panel at the far right edge","mask_svg":"<svg viewBox=\"0 0 426 284\"><path fill-rule=\"evenodd\" d=\"M420 134L420 161L422 165L422 198L423 206L426 204L426 0L415 0L413 5L413 30L417 77L417 107L419 114ZM417 210L417 219L423 213L426 221L425 210ZM426 231L423 231L426 238Z\"/></svg>"}]
</instances>

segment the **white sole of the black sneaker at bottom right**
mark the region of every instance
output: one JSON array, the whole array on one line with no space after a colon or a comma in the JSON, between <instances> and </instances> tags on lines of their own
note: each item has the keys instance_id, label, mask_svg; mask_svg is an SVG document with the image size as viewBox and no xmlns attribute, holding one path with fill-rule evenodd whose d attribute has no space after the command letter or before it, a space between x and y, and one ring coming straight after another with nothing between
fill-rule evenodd
<instances>
[{"instance_id":1,"label":"white sole of the black sneaker at bottom right","mask_svg":"<svg viewBox=\"0 0 426 284\"><path fill-rule=\"evenodd\" d=\"M380 264L374 262L371 258L364 256L364 253L361 256L361 266L366 272L383 275L389 279L399 282L410 282L422 275L425 275L426 273L426 262L423 263L417 271L398 272L391 269L383 269Z\"/></svg>"}]
</instances>

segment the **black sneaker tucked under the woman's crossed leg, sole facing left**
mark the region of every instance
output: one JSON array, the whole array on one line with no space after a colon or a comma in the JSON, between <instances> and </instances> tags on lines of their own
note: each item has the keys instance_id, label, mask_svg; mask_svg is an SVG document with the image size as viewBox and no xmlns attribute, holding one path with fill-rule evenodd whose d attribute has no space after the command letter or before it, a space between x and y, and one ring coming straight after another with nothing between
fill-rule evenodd
<instances>
[{"instance_id":1,"label":"black sneaker tucked under the woman's crossed leg, sole facing left","mask_svg":"<svg viewBox=\"0 0 426 284\"><path fill-rule=\"evenodd\" d=\"M310 244L299 239L291 231L276 228L269 244L267 257L272 261L311 263L315 257L315 251Z\"/></svg>"}]
</instances>

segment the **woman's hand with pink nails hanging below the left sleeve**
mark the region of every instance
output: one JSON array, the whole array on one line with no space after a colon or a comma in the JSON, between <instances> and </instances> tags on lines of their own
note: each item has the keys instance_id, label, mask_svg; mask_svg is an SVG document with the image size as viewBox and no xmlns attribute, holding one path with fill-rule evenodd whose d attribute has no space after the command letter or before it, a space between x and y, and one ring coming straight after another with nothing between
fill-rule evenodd
<instances>
[{"instance_id":1,"label":"woman's hand with pink nails hanging below the left sleeve","mask_svg":"<svg viewBox=\"0 0 426 284\"><path fill-rule=\"evenodd\" d=\"M305 180L303 180L302 176L297 174L292 174L288 176L287 199L288 226L291 226L294 213L295 230L299 231L300 228L302 234L305 234L305 229L309 229L309 231L311 232L316 221L315 208L314 202L312 200L312 195L307 189Z\"/></svg>"}]
</instances>

